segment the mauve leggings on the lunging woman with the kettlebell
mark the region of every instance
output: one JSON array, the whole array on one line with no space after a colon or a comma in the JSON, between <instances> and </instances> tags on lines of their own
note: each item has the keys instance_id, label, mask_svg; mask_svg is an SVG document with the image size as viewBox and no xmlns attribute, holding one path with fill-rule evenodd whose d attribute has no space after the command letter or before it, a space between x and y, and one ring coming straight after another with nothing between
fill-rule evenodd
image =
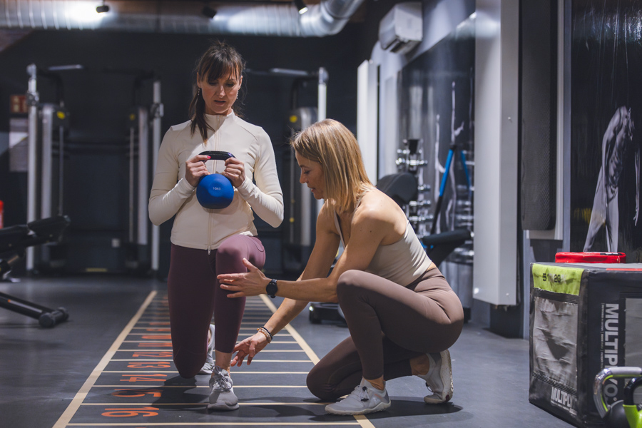
<instances>
[{"instance_id":1,"label":"mauve leggings on the lunging woman with the kettlebell","mask_svg":"<svg viewBox=\"0 0 642 428\"><path fill-rule=\"evenodd\" d=\"M265 250L258 238L233 235L210 254L172 244L167 290L174 364L181 377L194 377L203 368L212 314L215 350L234 350L245 297L228 298L216 275L247 272L243 258L263 268Z\"/></svg>"}]
</instances>

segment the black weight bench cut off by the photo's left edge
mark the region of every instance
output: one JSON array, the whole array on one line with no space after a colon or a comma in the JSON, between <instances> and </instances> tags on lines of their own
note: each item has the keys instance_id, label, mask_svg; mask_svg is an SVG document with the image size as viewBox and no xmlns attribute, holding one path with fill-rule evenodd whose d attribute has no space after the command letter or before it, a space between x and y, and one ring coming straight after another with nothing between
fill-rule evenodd
<instances>
[{"instance_id":1,"label":"black weight bench cut off by the photo's left edge","mask_svg":"<svg viewBox=\"0 0 642 428\"><path fill-rule=\"evenodd\" d=\"M24 258L26 248L58 241L68 225L69 218L58 215L0 229L0 278ZM4 292L0 292L0 307L35 318L42 327L54 327L69 317L64 307L53 310Z\"/></svg>"}]
</instances>

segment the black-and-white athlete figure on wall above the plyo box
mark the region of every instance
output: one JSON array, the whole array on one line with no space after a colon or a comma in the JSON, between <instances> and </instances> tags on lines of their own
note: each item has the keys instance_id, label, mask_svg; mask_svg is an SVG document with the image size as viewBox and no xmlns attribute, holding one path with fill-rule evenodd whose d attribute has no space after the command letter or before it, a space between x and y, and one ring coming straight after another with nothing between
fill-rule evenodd
<instances>
[{"instance_id":1,"label":"black-and-white athlete figure on wall above the plyo box","mask_svg":"<svg viewBox=\"0 0 642 428\"><path fill-rule=\"evenodd\" d=\"M619 107L613 114L602 138L602 162L593 199L593 210L588 225L584 251L603 250L593 248L596 235L605 228L606 250L618 251L618 189L624 167L624 159L631 150L635 156L636 168L636 211L633 221L637 225L640 213L640 147L633 142L635 126L631 119L631 109Z\"/></svg>"}]
</instances>

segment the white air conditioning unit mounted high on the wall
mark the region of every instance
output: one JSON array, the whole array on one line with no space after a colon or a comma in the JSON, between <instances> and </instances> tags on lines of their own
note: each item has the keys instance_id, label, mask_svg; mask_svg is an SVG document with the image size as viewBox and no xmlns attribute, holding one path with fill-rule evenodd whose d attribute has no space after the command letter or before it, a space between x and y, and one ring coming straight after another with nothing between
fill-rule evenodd
<instances>
[{"instance_id":1,"label":"white air conditioning unit mounted high on the wall","mask_svg":"<svg viewBox=\"0 0 642 428\"><path fill-rule=\"evenodd\" d=\"M395 4L379 22L379 43L384 51L406 54L422 41L422 4Z\"/></svg>"}]
</instances>

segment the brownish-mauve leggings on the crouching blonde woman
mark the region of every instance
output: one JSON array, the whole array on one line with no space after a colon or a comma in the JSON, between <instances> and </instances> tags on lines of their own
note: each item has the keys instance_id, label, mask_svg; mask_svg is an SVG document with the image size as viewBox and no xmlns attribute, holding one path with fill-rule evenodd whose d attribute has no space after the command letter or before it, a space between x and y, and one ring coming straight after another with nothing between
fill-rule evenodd
<instances>
[{"instance_id":1,"label":"brownish-mauve leggings on the crouching blonde woman","mask_svg":"<svg viewBox=\"0 0 642 428\"><path fill-rule=\"evenodd\" d=\"M410 376L412 357L447 350L464 326L462 303L436 267L407 287L348 270L337 296L350 337L307 375L310 392L323 400L352 392L362 377Z\"/></svg>"}]
</instances>

